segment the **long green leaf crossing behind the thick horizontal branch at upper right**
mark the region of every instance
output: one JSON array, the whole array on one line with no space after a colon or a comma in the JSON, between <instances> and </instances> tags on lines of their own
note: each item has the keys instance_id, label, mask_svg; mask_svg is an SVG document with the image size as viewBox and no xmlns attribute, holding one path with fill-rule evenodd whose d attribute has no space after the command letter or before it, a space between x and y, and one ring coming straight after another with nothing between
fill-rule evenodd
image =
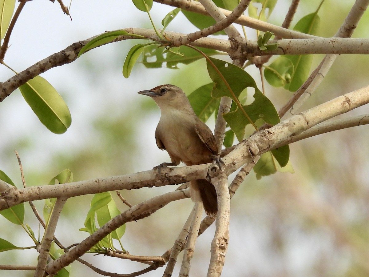
<instances>
[{"instance_id":1,"label":"long green leaf crossing behind the thick horizontal branch at upper right","mask_svg":"<svg viewBox=\"0 0 369 277\"><path fill-rule=\"evenodd\" d=\"M301 33L317 35L319 25L320 18L318 14L311 13L301 18L293 30ZM291 75L291 82L286 83L284 88L294 92L306 81L310 72L311 62L313 61L313 55L285 55L284 57L290 59L294 66L294 72Z\"/></svg>"}]
</instances>

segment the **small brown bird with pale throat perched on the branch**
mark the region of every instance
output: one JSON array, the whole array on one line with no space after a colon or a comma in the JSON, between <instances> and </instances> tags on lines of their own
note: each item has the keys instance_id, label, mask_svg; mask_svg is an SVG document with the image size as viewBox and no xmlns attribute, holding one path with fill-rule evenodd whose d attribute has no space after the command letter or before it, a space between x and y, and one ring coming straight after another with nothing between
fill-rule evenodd
<instances>
[{"instance_id":1,"label":"small brown bird with pale throat perched on the branch","mask_svg":"<svg viewBox=\"0 0 369 277\"><path fill-rule=\"evenodd\" d=\"M159 106L161 117L156 127L156 145L168 151L171 163L160 166L207 164L218 156L218 148L211 130L196 116L183 90L173 85L161 85L138 92L148 95ZM207 180L190 181L191 198L203 202L207 215L218 210L217 193Z\"/></svg>"}]
</instances>

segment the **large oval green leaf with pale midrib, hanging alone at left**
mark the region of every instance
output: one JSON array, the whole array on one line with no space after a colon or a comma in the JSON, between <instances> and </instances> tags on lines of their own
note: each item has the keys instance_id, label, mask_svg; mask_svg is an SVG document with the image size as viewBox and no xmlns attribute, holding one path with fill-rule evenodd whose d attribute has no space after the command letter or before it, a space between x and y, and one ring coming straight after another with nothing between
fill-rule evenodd
<instances>
[{"instance_id":1,"label":"large oval green leaf with pale midrib, hanging alone at left","mask_svg":"<svg viewBox=\"0 0 369 277\"><path fill-rule=\"evenodd\" d=\"M72 123L68 106L54 87L36 76L19 87L24 99L47 129L62 134Z\"/></svg>"}]
</instances>

